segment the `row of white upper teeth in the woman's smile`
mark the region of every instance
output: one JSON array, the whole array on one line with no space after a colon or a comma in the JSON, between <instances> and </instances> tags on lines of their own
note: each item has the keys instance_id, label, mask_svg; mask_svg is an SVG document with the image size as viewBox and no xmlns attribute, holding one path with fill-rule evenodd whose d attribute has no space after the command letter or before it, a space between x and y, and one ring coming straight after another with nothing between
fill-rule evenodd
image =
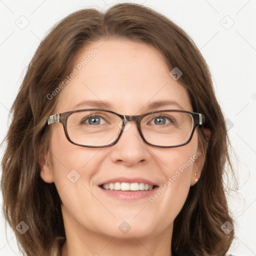
<instances>
[{"instance_id":1,"label":"row of white upper teeth in the woman's smile","mask_svg":"<svg viewBox=\"0 0 256 256\"><path fill-rule=\"evenodd\" d=\"M109 189L109 190L131 190L131 191L136 191L136 190L151 190L153 189L153 185L148 185L145 183L128 183L128 182L114 182L114 183L108 183L108 184L103 184L102 187L104 189Z\"/></svg>"}]
</instances>

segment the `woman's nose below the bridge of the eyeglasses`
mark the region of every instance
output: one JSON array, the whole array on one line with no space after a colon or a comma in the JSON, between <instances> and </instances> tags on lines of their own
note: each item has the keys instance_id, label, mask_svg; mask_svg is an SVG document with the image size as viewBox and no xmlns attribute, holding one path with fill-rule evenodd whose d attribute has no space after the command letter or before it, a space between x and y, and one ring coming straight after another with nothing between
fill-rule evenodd
<instances>
[{"instance_id":1,"label":"woman's nose below the bridge of the eyeglasses","mask_svg":"<svg viewBox=\"0 0 256 256\"><path fill-rule=\"evenodd\" d=\"M150 159L148 147L137 130L136 122L127 122L119 140L111 146L110 157L112 161L126 166L144 164Z\"/></svg>"}]
</instances>

